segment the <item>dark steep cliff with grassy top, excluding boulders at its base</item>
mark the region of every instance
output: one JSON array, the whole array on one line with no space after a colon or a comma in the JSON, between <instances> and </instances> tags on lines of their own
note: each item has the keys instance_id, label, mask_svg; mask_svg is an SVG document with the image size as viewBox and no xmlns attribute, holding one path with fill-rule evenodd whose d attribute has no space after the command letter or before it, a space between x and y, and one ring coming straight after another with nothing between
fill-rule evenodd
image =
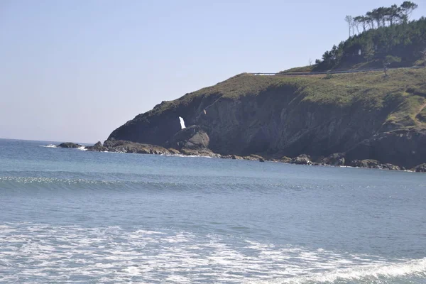
<instances>
[{"instance_id":1,"label":"dark steep cliff with grassy top, excluding boulders at its base","mask_svg":"<svg viewBox=\"0 0 426 284\"><path fill-rule=\"evenodd\" d=\"M426 70L280 77L238 75L163 102L116 129L108 140L160 146L200 127L216 153L327 156L347 152L413 166L425 163ZM402 135L402 136L401 136Z\"/></svg>"}]
</instances>

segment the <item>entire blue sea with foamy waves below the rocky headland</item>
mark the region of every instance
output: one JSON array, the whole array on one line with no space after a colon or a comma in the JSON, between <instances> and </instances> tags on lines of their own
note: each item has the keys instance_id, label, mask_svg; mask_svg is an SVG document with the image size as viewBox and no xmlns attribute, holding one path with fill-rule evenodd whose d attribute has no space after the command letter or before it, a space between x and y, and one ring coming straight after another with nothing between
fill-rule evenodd
<instances>
[{"instance_id":1,"label":"entire blue sea with foamy waves below the rocky headland","mask_svg":"<svg viewBox=\"0 0 426 284\"><path fill-rule=\"evenodd\" d=\"M426 283L426 175L0 139L0 283Z\"/></svg>"}]
</instances>

